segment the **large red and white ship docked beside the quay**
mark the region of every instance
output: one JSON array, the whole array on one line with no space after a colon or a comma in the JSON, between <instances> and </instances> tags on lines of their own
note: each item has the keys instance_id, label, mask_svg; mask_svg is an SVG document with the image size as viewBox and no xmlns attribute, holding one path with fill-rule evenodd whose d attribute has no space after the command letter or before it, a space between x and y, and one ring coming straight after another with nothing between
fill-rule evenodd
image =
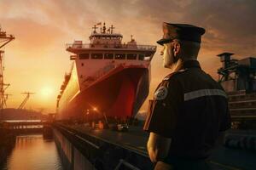
<instances>
[{"instance_id":1,"label":"large red and white ship docked beside the quay","mask_svg":"<svg viewBox=\"0 0 256 170\"><path fill-rule=\"evenodd\" d=\"M105 23L92 29L90 43L67 44L73 66L57 97L57 119L132 118L148 96L156 46L139 45L132 36L122 42Z\"/></svg>"}]
</instances>

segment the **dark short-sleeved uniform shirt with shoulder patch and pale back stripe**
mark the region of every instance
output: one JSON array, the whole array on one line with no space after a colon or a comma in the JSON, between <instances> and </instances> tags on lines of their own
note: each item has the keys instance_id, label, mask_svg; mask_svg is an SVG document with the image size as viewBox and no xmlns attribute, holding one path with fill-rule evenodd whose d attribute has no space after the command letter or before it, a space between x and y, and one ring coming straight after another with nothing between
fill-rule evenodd
<instances>
[{"instance_id":1,"label":"dark short-sleeved uniform shirt with shoulder patch and pale back stripe","mask_svg":"<svg viewBox=\"0 0 256 170\"><path fill-rule=\"evenodd\" d=\"M144 130L172 138L170 157L209 156L220 131L230 128L224 89L201 70L197 60L183 64L160 82L149 100Z\"/></svg>"}]
</instances>

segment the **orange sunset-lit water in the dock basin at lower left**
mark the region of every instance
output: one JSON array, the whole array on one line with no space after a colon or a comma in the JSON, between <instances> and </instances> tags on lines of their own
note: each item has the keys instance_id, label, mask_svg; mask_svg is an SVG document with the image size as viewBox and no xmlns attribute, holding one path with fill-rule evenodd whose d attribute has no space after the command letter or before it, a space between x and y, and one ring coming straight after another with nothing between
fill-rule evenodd
<instances>
[{"instance_id":1,"label":"orange sunset-lit water in the dock basin at lower left","mask_svg":"<svg viewBox=\"0 0 256 170\"><path fill-rule=\"evenodd\" d=\"M43 139L43 135L17 136L15 148L7 159L9 170L61 170L61 159L53 139Z\"/></svg>"}]
</instances>

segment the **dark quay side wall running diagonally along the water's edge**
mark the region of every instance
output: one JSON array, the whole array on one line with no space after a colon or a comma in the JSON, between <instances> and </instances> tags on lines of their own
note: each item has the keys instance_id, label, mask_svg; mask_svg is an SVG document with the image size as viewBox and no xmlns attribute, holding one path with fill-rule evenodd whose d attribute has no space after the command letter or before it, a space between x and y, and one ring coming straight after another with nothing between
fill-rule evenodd
<instances>
[{"instance_id":1,"label":"dark quay side wall running diagonally along the water's edge","mask_svg":"<svg viewBox=\"0 0 256 170\"><path fill-rule=\"evenodd\" d=\"M53 132L63 167L67 169L153 169L148 156L121 144L110 143L68 126L54 125Z\"/></svg>"}]
</instances>

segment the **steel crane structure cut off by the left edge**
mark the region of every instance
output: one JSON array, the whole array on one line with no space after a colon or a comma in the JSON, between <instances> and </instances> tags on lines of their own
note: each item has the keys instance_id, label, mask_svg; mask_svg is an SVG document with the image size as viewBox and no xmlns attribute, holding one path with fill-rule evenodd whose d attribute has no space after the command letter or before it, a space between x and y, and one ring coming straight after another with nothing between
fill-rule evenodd
<instances>
[{"instance_id":1,"label":"steel crane structure cut off by the left edge","mask_svg":"<svg viewBox=\"0 0 256 170\"><path fill-rule=\"evenodd\" d=\"M5 31L2 31L2 28L0 26L0 113L2 115L3 113L3 105L5 105L5 95L4 91L6 88L9 87L9 84L6 84L3 82L3 71L4 71L4 65L3 65L3 54L4 51L1 49L5 45L7 45L9 42L14 40L15 37L13 35L6 34Z\"/></svg>"}]
</instances>

